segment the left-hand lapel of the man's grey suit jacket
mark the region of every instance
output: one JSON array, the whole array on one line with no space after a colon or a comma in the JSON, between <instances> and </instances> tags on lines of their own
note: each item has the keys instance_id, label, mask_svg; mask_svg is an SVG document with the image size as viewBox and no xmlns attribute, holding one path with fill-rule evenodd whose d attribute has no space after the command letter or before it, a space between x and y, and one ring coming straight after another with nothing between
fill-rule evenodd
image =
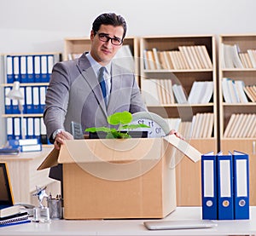
<instances>
[{"instance_id":1,"label":"left-hand lapel of the man's grey suit jacket","mask_svg":"<svg viewBox=\"0 0 256 236\"><path fill-rule=\"evenodd\" d=\"M105 102L102 95L102 89L98 83L94 70L90 66L90 61L84 54L79 57L79 62L77 66L85 82L88 83L92 93L96 96L98 105L101 106L102 111L105 113L106 116L108 116L107 108L105 106Z\"/></svg>"}]
</instances>

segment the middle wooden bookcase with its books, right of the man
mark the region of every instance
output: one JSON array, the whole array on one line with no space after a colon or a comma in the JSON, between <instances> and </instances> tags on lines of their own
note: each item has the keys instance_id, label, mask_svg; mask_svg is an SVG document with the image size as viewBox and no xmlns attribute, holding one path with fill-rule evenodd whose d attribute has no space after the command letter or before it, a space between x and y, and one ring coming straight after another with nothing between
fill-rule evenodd
<instances>
[{"instance_id":1,"label":"middle wooden bookcase with its books, right of the man","mask_svg":"<svg viewBox=\"0 0 256 236\"><path fill-rule=\"evenodd\" d=\"M199 51L202 48L207 51L207 58ZM186 123L189 124L189 128L186 128L189 132L187 130L180 131L182 134L186 134L185 139L191 145L201 153L216 152L218 148L218 101L215 38L212 35L142 37L140 52L143 55L140 63L141 89L148 110L163 118L181 118L182 126ZM173 52L175 52L176 57L172 56ZM192 56L191 58L189 54ZM209 60L210 65L207 64ZM174 66L175 64L177 65ZM162 83L160 80L165 80L167 83ZM195 82L212 83L212 95L208 101L201 103L202 97L195 102L188 101ZM170 83L172 83L171 86ZM173 85L180 86L186 101L178 102L176 94L173 93L172 95ZM195 95L199 94L198 91ZM167 95L163 95L164 93ZM163 99L165 96L167 97L166 100ZM207 123L209 122L208 119L197 119L198 124L196 125L197 127L205 127L201 131L207 130L208 135L206 137L195 135L193 133L195 131L191 128L195 125L195 116L207 113L211 113L212 125ZM206 123L208 125L204 126ZM194 164L187 158L182 158L177 165L176 172L177 205L201 205L201 163Z\"/></svg>"}]
</instances>

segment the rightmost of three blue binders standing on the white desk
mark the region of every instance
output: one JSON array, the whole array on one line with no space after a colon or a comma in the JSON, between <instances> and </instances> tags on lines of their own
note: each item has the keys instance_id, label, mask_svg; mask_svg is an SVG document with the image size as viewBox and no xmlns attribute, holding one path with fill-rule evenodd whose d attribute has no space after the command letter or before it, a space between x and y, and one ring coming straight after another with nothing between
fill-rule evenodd
<instances>
[{"instance_id":1,"label":"rightmost of three blue binders standing on the white desk","mask_svg":"<svg viewBox=\"0 0 256 236\"><path fill-rule=\"evenodd\" d=\"M235 220L249 219L249 159L246 153L234 151Z\"/></svg>"}]
</instances>

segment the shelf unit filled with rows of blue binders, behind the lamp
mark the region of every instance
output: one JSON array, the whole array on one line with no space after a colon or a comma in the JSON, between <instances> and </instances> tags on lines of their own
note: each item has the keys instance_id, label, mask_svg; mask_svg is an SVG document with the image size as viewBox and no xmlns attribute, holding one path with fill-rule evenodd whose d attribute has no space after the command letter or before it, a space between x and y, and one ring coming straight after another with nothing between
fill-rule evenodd
<instances>
[{"instance_id":1,"label":"shelf unit filled with rows of blue binders, behind the lamp","mask_svg":"<svg viewBox=\"0 0 256 236\"><path fill-rule=\"evenodd\" d=\"M3 144L11 139L37 138L39 143L49 144L43 121L46 89L53 65L61 58L60 53L27 53L1 56L1 93L3 112L1 122L4 127ZM23 113L17 100L10 100L7 94L13 84L20 83Z\"/></svg>"}]
</instances>

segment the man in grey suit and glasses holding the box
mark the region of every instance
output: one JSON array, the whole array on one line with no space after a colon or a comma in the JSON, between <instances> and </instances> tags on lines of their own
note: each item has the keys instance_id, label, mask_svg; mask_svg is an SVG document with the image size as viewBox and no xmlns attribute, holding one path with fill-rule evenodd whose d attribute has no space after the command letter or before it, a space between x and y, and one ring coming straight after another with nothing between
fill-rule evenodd
<instances>
[{"instance_id":1,"label":"man in grey suit and glasses holding the box","mask_svg":"<svg viewBox=\"0 0 256 236\"><path fill-rule=\"evenodd\" d=\"M55 64L46 94L44 123L49 141L59 149L70 134L71 122L89 127L108 126L114 112L146 111L134 74L112 62L126 33L125 19L101 14L90 32L91 48L79 59ZM105 95L98 77L104 66Z\"/></svg>"}]
</instances>

